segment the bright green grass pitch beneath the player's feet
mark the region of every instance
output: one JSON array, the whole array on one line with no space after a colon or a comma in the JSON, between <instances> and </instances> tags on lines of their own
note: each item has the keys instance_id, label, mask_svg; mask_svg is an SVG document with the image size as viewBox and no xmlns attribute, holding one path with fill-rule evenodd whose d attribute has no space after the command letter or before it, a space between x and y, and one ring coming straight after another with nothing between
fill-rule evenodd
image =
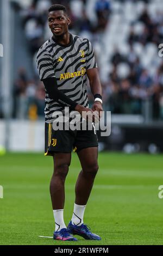
<instances>
[{"instance_id":1,"label":"bright green grass pitch beneath the player's feet","mask_svg":"<svg viewBox=\"0 0 163 256\"><path fill-rule=\"evenodd\" d=\"M52 157L43 154L0 156L0 245L162 245L162 155L100 153L99 172L84 222L101 241L61 242L40 238L54 230L49 181ZM72 154L66 180L65 223L71 219L74 185L80 170Z\"/></svg>"}]
</instances>

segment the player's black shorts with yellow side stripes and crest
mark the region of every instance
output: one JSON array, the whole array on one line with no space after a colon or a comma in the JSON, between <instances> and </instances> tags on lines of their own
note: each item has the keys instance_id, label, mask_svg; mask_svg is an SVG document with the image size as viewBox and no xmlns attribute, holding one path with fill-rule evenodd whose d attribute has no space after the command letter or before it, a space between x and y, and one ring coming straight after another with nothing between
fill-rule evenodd
<instances>
[{"instance_id":1,"label":"player's black shorts with yellow side stripes and crest","mask_svg":"<svg viewBox=\"0 0 163 256\"><path fill-rule=\"evenodd\" d=\"M95 129L86 131L54 131L51 124L45 123L45 155L54 155L55 152L79 152L85 148L98 147Z\"/></svg>"}]
</instances>

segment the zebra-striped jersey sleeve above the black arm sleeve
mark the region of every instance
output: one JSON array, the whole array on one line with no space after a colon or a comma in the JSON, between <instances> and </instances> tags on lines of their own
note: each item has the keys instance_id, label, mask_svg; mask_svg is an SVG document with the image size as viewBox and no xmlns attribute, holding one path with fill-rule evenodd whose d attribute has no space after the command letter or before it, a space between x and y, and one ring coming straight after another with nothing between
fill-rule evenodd
<instances>
[{"instance_id":1,"label":"zebra-striped jersey sleeve above the black arm sleeve","mask_svg":"<svg viewBox=\"0 0 163 256\"><path fill-rule=\"evenodd\" d=\"M52 56L47 51L39 51L36 57L37 69L39 70L40 80L55 77Z\"/></svg>"}]
</instances>

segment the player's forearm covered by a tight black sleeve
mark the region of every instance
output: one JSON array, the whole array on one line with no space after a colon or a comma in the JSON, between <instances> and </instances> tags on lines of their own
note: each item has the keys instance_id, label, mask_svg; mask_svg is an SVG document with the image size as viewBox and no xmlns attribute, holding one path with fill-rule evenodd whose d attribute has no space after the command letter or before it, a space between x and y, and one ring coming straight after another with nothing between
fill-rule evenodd
<instances>
[{"instance_id":1,"label":"player's forearm covered by a tight black sleeve","mask_svg":"<svg viewBox=\"0 0 163 256\"><path fill-rule=\"evenodd\" d=\"M72 101L64 93L58 90L57 80L55 77L46 78L42 82L51 99L57 101L62 107L70 107L71 110L74 110L76 108L78 103Z\"/></svg>"}]
</instances>

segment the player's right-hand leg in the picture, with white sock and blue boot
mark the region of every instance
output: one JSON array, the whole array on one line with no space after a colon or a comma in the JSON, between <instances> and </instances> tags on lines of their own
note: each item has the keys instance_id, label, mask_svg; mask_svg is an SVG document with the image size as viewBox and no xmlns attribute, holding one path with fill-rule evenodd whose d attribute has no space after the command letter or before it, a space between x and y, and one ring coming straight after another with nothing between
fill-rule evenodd
<instances>
[{"instance_id":1,"label":"player's right-hand leg in the picture, with white sock and blue boot","mask_svg":"<svg viewBox=\"0 0 163 256\"><path fill-rule=\"evenodd\" d=\"M78 153L82 171L76 182L76 201L72 219L68 224L68 231L73 235L80 235L87 240L101 240L99 235L93 234L83 223L83 216L87 200L89 199L93 182L98 171L98 148L87 148Z\"/></svg>"}]
</instances>

